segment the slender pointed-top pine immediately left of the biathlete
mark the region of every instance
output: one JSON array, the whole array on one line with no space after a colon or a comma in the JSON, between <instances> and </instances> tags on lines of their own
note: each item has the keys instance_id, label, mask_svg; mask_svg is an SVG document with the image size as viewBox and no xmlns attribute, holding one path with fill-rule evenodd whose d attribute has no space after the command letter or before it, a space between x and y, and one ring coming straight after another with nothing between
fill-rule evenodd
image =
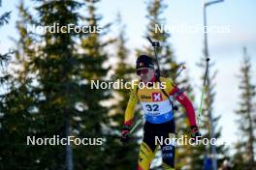
<instances>
[{"instance_id":1,"label":"slender pointed-top pine immediately left of the biathlete","mask_svg":"<svg viewBox=\"0 0 256 170\"><path fill-rule=\"evenodd\" d=\"M113 65L112 70L112 81L121 80L122 82L131 82L134 75L135 69L128 63L129 50L126 47L126 34L125 25L122 23L121 15L117 14L116 28L118 35L116 37L115 48L116 54L114 58L116 63ZM129 142L124 145L120 143L120 131L123 127L124 112L127 106L127 102L130 97L129 89L116 89L112 91L112 109L110 110L110 128L111 135L108 139L111 140L110 145L108 145L108 152L110 159L109 168L122 170L122 169L135 169L138 162L138 135L136 132L132 134ZM135 111L135 118L137 118L139 113ZM134 122L138 121L137 119Z\"/></svg>"}]
</instances>

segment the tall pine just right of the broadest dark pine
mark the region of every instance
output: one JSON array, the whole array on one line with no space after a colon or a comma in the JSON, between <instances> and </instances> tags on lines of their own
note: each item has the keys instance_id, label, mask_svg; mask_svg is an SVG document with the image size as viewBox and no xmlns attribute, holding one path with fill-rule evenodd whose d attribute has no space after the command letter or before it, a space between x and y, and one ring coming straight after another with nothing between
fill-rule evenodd
<instances>
[{"instance_id":1,"label":"tall pine just right of the broadest dark pine","mask_svg":"<svg viewBox=\"0 0 256 170\"><path fill-rule=\"evenodd\" d=\"M87 138L106 138L107 141L101 146L78 146L75 150L77 169L106 169L108 167L109 154L107 145L109 141L109 106L103 102L111 98L111 90L91 88L92 81L107 81L109 67L104 64L109 59L106 48L112 40L103 41L106 38L111 24L102 26L102 15L97 12L99 0L84 0L86 14L83 16L85 25L92 28L93 33L81 35L80 39L80 63L82 70L79 71L80 83L83 85L82 114L80 114L79 136ZM94 28L94 29L93 29ZM98 29L97 29L98 28ZM97 31L98 30L98 31ZM112 162L111 162L112 163Z\"/></svg>"}]
</instances>

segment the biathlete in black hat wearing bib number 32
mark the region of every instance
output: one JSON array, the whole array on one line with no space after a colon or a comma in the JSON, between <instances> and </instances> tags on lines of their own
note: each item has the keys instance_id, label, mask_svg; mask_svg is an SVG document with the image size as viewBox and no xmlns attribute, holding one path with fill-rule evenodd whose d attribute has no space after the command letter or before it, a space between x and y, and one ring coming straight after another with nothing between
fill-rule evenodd
<instances>
[{"instance_id":1,"label":"biathlete in black hat wearing bib number 32","mask_svg":"<svg viewBox=\"0 0 256 170\"><path fill-rule=\"evenodd\" d=\"M159 144L155 143L155 139L158 137L158 139L162 138L165 141L166 138L176 138L174 99L185 108L191 128L191 137L195 140L201 137L196 123L195 109L190 99L176 86L172 79L157 76L151 57L139 56L136 69L141 80L135 83L137 85L131 90L125 110L121 141L126 142L129 139L133 125L134 108L139 100L144 110L145 123L137 170L149 169L158 146L161 147L162 151L163 169L173 170L175 169L175 143ZM144 83L146 86L140 87L139 83Z\"/></svg>"}]
</instances>

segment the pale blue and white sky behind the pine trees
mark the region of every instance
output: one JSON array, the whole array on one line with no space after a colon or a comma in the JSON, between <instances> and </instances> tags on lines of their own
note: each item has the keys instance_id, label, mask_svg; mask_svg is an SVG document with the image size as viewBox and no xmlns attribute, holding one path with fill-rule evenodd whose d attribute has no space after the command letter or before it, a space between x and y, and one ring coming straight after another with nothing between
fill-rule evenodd
<instances>
[{"instance_id":1,"label":"pale blue and white sky behind the pine trees","mask_svg":"<svg viewBox=\"0 0 256 170\"><path fill-rule=\"evenodd\" d=\"M0 14L13 11L10 24L0 28L0 51L5 53L14 47L11 37L17 39L15 28L17 19L16 5L19 1L3 0ZM28 7L32 3L26 1ZM112 22L117 12L122 16L126 28L127 46L130 48L129 61L135 63L135 49L147 45L143 38L147 20L146 1L141 0L102 0L98 12L102 14L103 22ZM166 18L165 28L171 30L169 42L175 52L178 62L186 62L187 71L196 95L195 105L199 105L203 82L200 80L202 69L197 67L203 56L203 32L177 32L172 28L186 25L203 24L202 0L166 0L168 8L162 15ZM207 1L208 2L208 1ZM81 12L82 13L82 12ZM212 71L217 71L216 96L214 100L214 115L221 115L219 126L222 127L222 138L228 143L236 142L238 126L235 120L235 110L239 108L240 100L239 79L240 63L242 61L242 46L247 47L251 57L252 83L256 84L256 1L255 0L225 0L222 3L208 7L208 26L217 26L226 31L208 33L208 51L210 62L214 63ZM228 31L227 31L228 30ZM114 35L116 30L110 33ZM230 145L232 148L233 145Z\"/></svg>"}]
</instances>

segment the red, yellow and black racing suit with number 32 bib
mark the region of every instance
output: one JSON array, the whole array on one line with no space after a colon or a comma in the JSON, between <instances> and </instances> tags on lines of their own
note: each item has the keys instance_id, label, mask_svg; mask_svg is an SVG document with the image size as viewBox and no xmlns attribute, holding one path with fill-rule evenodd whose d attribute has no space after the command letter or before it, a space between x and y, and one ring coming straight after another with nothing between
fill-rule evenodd
<instances>
[{"instance_id":1,"label":"red, yellow and black racing suit with number 32 bib","mask_svg":"<svg viewBox=\"0 0 256 170\"><path fill-rule=\"evenodd\" d=\"M139 83L139 82L138 82ZM134 118L134 109L139 100L144 110L144 140L140 148L140 157L138 162L138 170L148 170L150 162L153 159L159 144L155 143L155 136L170 138L176 135L176 126L174 120L173 104L167 98L174 97L178 94L179 89L175 83L168 78L160 77L159 79L152 79L152 87L161 88L148 88L144 86L139 88L134 86L131 90L130 99L125 111L125 126L132 126ZM185 108L190 126L197 126L195 119L195 110L191 101L185 96L184 93L179 93L176 100ZM175 145L160 145L163 157L163 168L175 168Z\"/></svg>"}]
</instances>

